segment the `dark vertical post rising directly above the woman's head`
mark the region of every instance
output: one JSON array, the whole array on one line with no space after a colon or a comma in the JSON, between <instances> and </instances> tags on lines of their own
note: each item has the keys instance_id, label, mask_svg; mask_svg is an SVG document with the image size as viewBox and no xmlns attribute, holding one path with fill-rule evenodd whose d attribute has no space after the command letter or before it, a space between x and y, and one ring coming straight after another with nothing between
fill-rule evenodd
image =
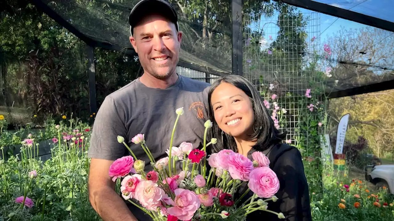
<instances>
[{"instance_id":1,"label":"dark vertical post rising directly above the woman's head","mask_svg":"<svg viewBox=\"0 0 394 221\"><path fill-rule=\"evenodd\" d=\"M232 74L242 75L242 0L232 0Z\"/></svg>"}]
</instances>

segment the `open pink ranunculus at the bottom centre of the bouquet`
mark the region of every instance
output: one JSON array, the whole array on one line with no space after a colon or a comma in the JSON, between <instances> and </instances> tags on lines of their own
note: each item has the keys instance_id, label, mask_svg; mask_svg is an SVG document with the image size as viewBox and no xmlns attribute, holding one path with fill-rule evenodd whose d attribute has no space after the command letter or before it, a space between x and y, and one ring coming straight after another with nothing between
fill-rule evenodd
<instances>
[{"instance_id":1,"label":"open pink ranunculus at the bottom centre of the bouquet","mask_svg":"<svg viewBox=\"0 0 394 221\"><path fill-rule=\"evenodd\" d=\"M187 221L193 218L194 213L200 208L201 202L193 191L178 188L174 191L175 199L171 200L172 207L167 208L170 215L179 220Z\"/></svg>"}]
</instances>

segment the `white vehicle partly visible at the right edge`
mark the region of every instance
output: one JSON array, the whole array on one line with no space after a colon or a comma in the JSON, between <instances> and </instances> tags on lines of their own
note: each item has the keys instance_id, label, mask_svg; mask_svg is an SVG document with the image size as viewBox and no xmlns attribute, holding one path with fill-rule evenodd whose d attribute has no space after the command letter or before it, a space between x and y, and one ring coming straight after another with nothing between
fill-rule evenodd
<instances>
[{"instance_id":1,"label":"white vehicle partly visible at the right edge","mask_svg":"<svg viewBox=\"0 0 394 221\"><path fill-rule=\"evenodd\" d=\"M372 168L368 174L368 168ZM375 187L387 187L387 192L394 194L394 165L372 165L365 167L365 179Z\"/></svg>"}]
</instances>

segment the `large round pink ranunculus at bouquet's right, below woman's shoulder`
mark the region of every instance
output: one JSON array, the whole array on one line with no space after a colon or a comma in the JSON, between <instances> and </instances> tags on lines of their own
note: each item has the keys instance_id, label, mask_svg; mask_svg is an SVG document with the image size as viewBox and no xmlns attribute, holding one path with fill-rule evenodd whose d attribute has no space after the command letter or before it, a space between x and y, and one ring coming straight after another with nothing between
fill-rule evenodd
<instances>
[{"instance_id":1,"label":"large round pink ranunculus at bouquet's right, below woman's shoulder","mask_svg":"<svg viewBox=\"0 0 394 221\"><path fill-rule=\"evenodd\" d=\"M279 190L279 179L267 166L255 168L249 174L249 189L258 197L270 198Z\"/></svg>"}]
</instances>

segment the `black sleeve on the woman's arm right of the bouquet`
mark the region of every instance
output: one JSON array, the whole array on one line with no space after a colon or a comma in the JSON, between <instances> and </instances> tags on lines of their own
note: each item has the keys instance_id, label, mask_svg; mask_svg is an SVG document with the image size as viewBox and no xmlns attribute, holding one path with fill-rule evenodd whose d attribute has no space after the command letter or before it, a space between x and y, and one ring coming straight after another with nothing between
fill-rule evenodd
<instances>
[{"instance_id":1,"label":"black sleeve on the woman's arm right of the bouquet","mask_svg":"<svg viewBox=\"0 0 394 221\"><path fill-rule=\"evenodd\" d=\"M277 174L280 188L277 194L279 199L274 207L279 208L286 219L284 221L310 221L309 187L304 173L301 153L293 148L284 152L275 162L273 171ZM269 209L268 204L268 209ZM276 220L276 219L273 219Z\"/></svg>"}]
</instances>

